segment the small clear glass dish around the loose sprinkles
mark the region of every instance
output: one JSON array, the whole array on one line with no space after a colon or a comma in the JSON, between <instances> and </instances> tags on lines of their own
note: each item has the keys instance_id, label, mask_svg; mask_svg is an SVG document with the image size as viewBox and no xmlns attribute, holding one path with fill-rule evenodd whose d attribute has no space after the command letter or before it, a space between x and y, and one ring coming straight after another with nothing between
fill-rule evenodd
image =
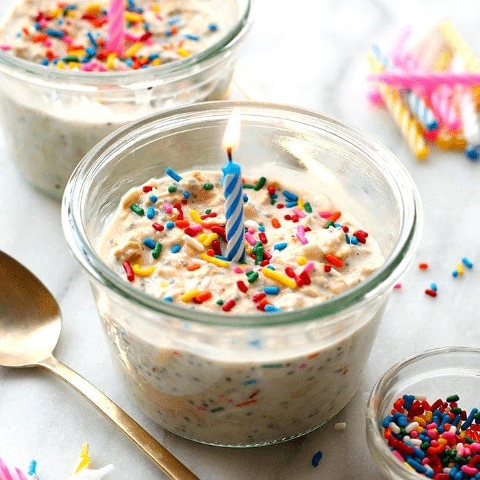
<instances>
[{"instance_id":1,"label":"small clear glass dish around the loose sprinkles","mask_svg":"<svg viewBox=\"0 0 480 480\"><path fill-rule=\"evenodd\" d=\"M427 401L460 397L459 406L478 406L480 348L446 347L426 350L393 365L376 383L367 405L367 442L379 470L387 479L426 479L404 466L390 451L383 437L383 418L403 395L424 395Z\"/></svg>"}]
</instances>

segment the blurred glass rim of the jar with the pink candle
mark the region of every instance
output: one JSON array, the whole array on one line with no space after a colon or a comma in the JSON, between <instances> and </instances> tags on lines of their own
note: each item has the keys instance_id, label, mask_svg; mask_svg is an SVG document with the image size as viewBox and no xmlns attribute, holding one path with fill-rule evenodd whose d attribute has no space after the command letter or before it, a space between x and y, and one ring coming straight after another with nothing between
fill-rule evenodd
<instances>
[{"instance_id":1,"label":"blurred glass rim of the jar with the pink candle","mask_svg":"<svg viewBox=\"0 0 480 480\"><path fill-rule=\"evenodd\" d=\"M128 85L136 82L163 83L178 75L188 75L189 70L207 60L221 55L233 46L237 45L252 25L252 2L245 0L245 10L241 12L239 21L210 47L195 53L188 58L169 62L152 69L129 70L129 71L106 71L106 72L84 72L62 69L49 69L41 64L24 60L0 50L0 67L8 67L15 73L33 75L34 77L52 82L73 82L78 85Z\"/></svg>"}]
</instances>

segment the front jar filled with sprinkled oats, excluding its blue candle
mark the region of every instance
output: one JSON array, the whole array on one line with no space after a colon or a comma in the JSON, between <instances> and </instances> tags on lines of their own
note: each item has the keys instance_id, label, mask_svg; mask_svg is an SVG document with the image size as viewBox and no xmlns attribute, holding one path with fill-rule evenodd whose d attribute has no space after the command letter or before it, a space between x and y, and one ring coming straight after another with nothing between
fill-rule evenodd
<instances>
[{"instance_id":1,"label":"front jar filled with sprinkled oats, excluding its blue candle","mask_svg":"<svg viewBox=\"0 0 480 480\"><path fill-rule=\"evenodd\" d=\"M391 177L384 152L380 167L348 152L348 128L242 104L245 256L232 260L219 148L230 110L175 110L97 147L67 187L64 231L136 405L192 440L256 446L320 427L355 393L416 243L416 198L392 154Z\"/></svg>"}]
</instances>

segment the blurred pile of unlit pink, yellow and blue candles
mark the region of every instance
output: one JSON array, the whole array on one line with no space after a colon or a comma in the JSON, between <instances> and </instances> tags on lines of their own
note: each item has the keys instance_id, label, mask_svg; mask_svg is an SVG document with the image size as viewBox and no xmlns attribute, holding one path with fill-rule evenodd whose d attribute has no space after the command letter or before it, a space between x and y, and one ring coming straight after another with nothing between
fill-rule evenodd
<instances>
[{"instance_id":1,"label":"blurred pile of unlit pink, yellow and blue candles","mask_svg":"<svg viewBox=\"0 0 480 480\"><path fill-rule=\"evenodd\" d=\"M479 158L480 59L453 23L421 38L407 27L388 54L374 46L368 60L369 99L387 107L416 158L433 142Z\"/></svg>"}]
</instances>

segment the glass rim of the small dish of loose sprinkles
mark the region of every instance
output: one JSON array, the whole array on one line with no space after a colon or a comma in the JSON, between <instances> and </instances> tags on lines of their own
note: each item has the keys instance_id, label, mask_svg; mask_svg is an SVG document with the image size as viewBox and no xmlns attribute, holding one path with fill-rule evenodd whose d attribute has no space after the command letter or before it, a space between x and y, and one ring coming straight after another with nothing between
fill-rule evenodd
<instances>
[{"instance_id":1,"label":"glass rim of the small dish of loose sprinkles","mask_svg":"<svg viewBox=\"0 0 480 480\"><path fill-rule=\"evenodd\" d=\"M370 448L374 448L376 453L381 455L384 464L387 464L389 468L398 472L399 475L401 472L403 479L418 480L420 478L424 479L426 477L424 475L418 474L417 472L413 472L408 468L405 468L403 464L401 464L400 461L398 461L398 459L394 455L392 455L392 451L390 450L387 442L385 442L385 438L383 437L381 427L382 419L377 417L377 413L379 412L376 412L376 409L374 408L374 399L376 398L376 396L379 395L379 392L383 390L384 385L387 385L390 381L392 381L392 379L394 379L395 376L398 375L398 373L406 367L409 367L410 365L413 365L414 363L417 363L429 357L448 355L450 353L473 353L480 356L480 348L466 346L448 346L441 348L432 348L431 350L424 350L422 352L411 355L410 357L407 357L406 359L395 363L395 365L392 365L392 367L390 367L381 376L381 379L379 379L379 381L375 383L374 387L372 388L372 393L368 398L366 427L368 430L370 429L370 431L372 431L374 435L374 442L373 444L372 442L369 442L369 446ZM368 435L369 433L367 432L367 436Z\"/></svg>"}]
</instances>

